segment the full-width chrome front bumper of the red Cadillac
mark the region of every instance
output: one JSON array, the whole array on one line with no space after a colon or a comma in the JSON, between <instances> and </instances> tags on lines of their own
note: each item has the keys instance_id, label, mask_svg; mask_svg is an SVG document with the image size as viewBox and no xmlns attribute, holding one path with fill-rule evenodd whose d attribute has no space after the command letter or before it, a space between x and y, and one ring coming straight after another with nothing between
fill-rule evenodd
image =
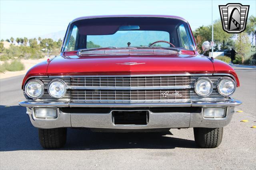
<instances>
[{"instance_id":1,"label":"full-width chrome front bumper of the red Cadillac","mask_svg":"<svg viewBox=\"0 0 256 170\"><path fill-rule=\"evenodd\" d=\"M34 127L59 128L59 127L86 127L86 128L108 128L108 129L149 129L149 128L190 128L224 127L230 123L234 114L234 107L241 102L229 99L218 102L190 102L190 103L153 103L153 104L78 104L78 103L35 103L30 101L20 102L19 105L27 107L27 114ZM58 109L56 119L38 119L34 117L34 107L112 107L120 110L120 107L226 107L226 117L204 118L203 109L201 113L152 113L149 111L147 125L114 125L112 111L110 113L64 113ZM121 109L122 110L122 109Z\"/></svg>"}]
</instances>

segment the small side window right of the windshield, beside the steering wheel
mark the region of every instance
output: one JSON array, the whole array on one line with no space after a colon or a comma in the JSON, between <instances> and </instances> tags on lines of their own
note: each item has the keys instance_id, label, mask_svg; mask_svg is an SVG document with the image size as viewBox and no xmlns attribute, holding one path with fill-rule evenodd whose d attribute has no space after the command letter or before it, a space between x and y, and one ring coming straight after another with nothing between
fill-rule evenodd
<instances>
[{"instance_id":1,"label":"small side window right of the windshield, beside the steering wheel","mask_svg":"<svg viewBox=\"0 0 256 170\"><path fill-rule=\"evenodd\" d=\"M181 24L178 28L178 32L180 35L180 43L181 43L181 47L185 48L185 49L194 49L193 47L193 43L190 40L190 37L187 34L187 30L184 27L184 24Z\"/></svg>"}]
</instances>

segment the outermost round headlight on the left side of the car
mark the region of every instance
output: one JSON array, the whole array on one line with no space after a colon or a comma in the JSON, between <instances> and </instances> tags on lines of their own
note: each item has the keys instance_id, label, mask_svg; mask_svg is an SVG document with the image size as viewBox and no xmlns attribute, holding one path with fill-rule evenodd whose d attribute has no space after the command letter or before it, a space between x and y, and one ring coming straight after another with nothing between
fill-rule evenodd
<instances>
[{"instance_id":1,"label":"outermost round headlight on the left side of the car","mask_svg":"<svg viewBox=\"0 0 256 170\"><path fill-rule=\"evenodd\" d=\"M44 83L37 79L28 81L25 86L26 95L32 99L38 99L44 94Z\"/></svg>"}]
</instances>

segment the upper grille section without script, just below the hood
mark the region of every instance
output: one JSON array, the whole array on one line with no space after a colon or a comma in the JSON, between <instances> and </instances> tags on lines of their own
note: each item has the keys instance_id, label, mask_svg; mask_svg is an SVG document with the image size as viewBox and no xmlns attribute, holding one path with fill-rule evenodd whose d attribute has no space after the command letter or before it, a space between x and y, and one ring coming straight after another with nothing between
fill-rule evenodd
<instances>
[{"instance_id":1,"label":"upper grille section without script, just below the hood","mask_svg":"<svg viewBox=\"0 0 256 170\"><path fill-rule=\"evenodd\" d=\"M152 77L71 77L71 86L148 87L190 85L189 76Z\"/></svg>"}]
</instances>

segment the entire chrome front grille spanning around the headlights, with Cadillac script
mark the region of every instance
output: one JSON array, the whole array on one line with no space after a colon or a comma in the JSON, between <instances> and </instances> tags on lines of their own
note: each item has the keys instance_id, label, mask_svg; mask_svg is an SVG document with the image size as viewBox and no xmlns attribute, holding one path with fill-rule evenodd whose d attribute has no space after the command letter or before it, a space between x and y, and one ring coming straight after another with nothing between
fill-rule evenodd
<instances>
[{"instance_id":1,"label":"entire chrome front grille spanning around the headlights, with Cadillac script","mask_svg":"<svg viewBox=\"0 0 256 170\"><path fill-rule=\"evenodd\" d=\"M211 79L214 89L207 97L194 92L194 83L200 77ZM66 82L67 93L61 99L51 97L48 84L55 77L36 77L44 85L44 95L36 100L70 100L71 102L180 102L208 99L225 99L216 89L222 76L76 76L56 77ZM129 88L131 87L131 88ZM168 93L170 95L163 95ZM178 95L175 95L178 93Z\"/></svg>"}]
</instances>

